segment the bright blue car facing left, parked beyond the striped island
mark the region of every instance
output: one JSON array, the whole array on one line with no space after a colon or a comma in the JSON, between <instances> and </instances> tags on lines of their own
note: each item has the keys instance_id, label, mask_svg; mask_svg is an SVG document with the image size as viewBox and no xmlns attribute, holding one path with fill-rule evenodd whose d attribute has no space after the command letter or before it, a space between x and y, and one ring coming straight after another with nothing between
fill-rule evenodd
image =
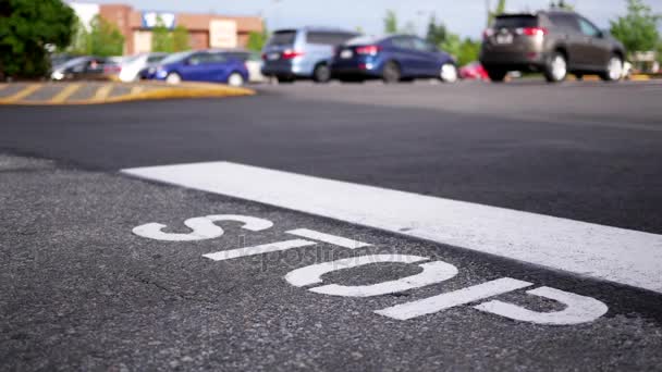
<instances>
[{"instance_id":1,"label":"bright blue car facing left, parked beyond the striped island","mask_svg":"<svg viewBox=\"0 0 662 372\"><path fill-rule=\"evenodd\" d=\"M248 70L244 61L223 51L188 51L167 57L147 78L169 84L210 82L242 86L248 80Z\"/></svg>"}]
</instances>

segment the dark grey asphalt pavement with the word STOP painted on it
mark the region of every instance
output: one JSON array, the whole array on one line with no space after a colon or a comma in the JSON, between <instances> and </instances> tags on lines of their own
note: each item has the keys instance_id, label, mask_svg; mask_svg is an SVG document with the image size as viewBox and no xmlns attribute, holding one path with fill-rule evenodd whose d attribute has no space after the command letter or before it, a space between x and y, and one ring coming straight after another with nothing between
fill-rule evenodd
<instances>
[{"instance_id":1,"label":"dark grey asphalt pavement with the word STOP painted on it","mask_svg":"<svg viewBox=\"0 0 662 372\"><path fill-rule=\"evenodd\" d=\"M302 190L311 182L319 193L358 193L360 184L470 202L477 214L458 214L469 224L494 211L590 224L594 236L560 236L564 248L549 249L550 260L601 232L653 241L625 248L633 252L655 248L662 84L257 90L0 107L2 370L660 370L660 292L372 224L399 218L382 215L387 204L356 223L268 190L298 174L310 176L295 178ZM121 173L216 161L290 173L246 176L236 193ZM261 197L242 198L242 186ZM351 209L350 194L338 196L339 209ZM401 209L422 231L417 211ZM539 228L526 232L528 244L556 232ZM319 287L316 272L336 286ZM490 284L512 287L485 295Z\"/></svg>"}]
</instances>

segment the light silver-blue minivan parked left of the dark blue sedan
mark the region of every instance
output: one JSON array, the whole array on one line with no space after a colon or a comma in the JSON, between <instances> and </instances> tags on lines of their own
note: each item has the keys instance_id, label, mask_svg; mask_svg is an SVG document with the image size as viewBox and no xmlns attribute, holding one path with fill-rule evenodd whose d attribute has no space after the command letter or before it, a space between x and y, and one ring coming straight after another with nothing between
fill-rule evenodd
<instances>
[{"instance_id":1,"label":"light silver-blue minivan parked left of the dark blue sedan","mask_svg":"<svg viewBox=\"0 0 662 372\"><path fill-rule=\"evenodd\" d=\"M327 83L331 79L329 62L334 48L357 35L319 27L277 30L262 50L262 74L281 83L297 78Z\"/></svg>"}]
</instances>

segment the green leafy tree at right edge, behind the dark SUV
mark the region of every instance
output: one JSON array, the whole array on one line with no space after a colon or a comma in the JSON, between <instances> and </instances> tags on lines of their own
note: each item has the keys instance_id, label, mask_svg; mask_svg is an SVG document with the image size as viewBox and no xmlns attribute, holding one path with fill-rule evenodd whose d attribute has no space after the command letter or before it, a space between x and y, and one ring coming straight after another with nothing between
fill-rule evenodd
<instances>
[{"instance_id":1,"label":"green leafy tree at right edge, behind the dark SUV","mask_svg":"<svg viewBox=\"0 0 662 372\"><path fill-rule=\"evenodd\" d=\"M611 21L611 33L630 53L650 51L660 40L659 21L660 16L642 0L627 0L627 14Z\"/></svg>"}]
</instances>

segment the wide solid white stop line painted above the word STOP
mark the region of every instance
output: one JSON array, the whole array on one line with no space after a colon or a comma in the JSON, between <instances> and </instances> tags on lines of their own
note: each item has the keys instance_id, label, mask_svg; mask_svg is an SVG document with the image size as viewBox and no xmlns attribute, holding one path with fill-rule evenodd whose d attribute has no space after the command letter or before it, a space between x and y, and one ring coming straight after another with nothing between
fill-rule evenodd
<instances>
[{"instance_id":1,"label":"wide solid white stop line painted above the word STOP","mask_svg":"<svg viewBox=\"0 0 662 372\"><path fill-rule=\"evenodd\" d=\"M228 162L123 172L662 293L661 235Z\"/></svg>"}]
</instances>

